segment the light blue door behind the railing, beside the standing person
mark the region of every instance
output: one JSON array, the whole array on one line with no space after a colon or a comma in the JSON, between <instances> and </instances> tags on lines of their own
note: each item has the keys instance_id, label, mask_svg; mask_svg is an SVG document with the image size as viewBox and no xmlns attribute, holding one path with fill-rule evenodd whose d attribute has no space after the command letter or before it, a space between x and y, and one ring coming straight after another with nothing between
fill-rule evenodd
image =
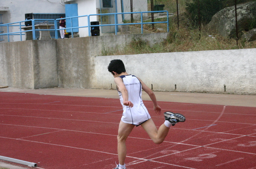
<instances>
[{"instance_id":1,"label":"light blue door behind the railing, beside the standing person","mask_svg":"<svg viewBox=\"0 0 256 169\"><path fill-rule=\"evenodd\" d=\"M66 13L66 18L77 17L78 16L77 4L66 4L65 13ZM78 27L78 18L66 19L66 28L71 28L71 27ZM67 32L71 32L71 29L67 29ZM78 28L73 29L73 32L78 32Z\"/></svg>"}]
</instances>

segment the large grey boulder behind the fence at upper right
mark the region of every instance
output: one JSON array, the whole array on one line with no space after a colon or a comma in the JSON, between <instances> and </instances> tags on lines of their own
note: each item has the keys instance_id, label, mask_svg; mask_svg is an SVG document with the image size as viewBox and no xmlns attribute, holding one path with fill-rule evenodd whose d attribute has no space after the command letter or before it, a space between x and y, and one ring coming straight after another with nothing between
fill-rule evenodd
<instances>
[{"instance_id":1,"label":"large grey boulder behind the fence at upper right","mask_svg":"<svg viewBox=\"0 0 256 169\"><path fill-rule=\"evenodd\" d=\"M239 33L252 29L256 20L256 1L240 4L237 8L237 26ZM209 29L216 30L224 37L236 37L235 6L224 8L217 12L207 25Z\"/></svg>"}]
</instances>

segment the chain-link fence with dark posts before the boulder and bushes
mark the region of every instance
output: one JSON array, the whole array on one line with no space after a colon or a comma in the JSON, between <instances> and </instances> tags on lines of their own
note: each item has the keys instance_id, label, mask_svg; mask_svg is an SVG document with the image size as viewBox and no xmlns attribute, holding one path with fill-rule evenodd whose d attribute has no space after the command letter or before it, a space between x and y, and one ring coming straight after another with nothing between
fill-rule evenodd
<instances>
[{"instance_id":1,"label":"chain-link fence with dark posts before the boulder and bushes","mask_svg":"<svg viewBox=\"0 0 256 169\"><path fill-rule=\"evenodd\" d=\"M199 30L199 38L203 33L216 33L240 39L256 28L256 0L148 0L148 11L168 11L172 30L180 27ZM166 17L166 14L148 13L144 22L163 21ZM166 32L166 25L149 24L145 29Z\"/></svg>"}]
</instances>

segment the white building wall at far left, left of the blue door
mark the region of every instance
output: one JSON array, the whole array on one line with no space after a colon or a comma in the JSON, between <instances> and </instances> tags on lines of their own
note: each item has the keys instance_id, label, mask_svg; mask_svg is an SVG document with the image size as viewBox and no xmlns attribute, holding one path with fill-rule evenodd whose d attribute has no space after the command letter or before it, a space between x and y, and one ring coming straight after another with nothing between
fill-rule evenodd
<instances>
[{"instance_id":1,"label":"white building wall at far left, left of the blue door","mask_svg":"<svg viewBox=\"0 0 256 169\"><path fill-rule=\"evenodd\" d=\"M2 22L4 24L24 21L26 13L65 13L65 4L60 0L50 0L50 2L41 0L0 0L0 7L9 7L9 11L0 11L0 14L3 14ZM3 27L3 30L4 33L7 33L6 27ZM16 31L19 31L18 26L12 26L9 29L9 32ZM2 43L8 42L8 37L3 37L4 41ZM22 40L25 40L25 35L22 35ZM14 41L20 41L20 36L10 36L10 42Z\"/></svg>"}]
</instances>

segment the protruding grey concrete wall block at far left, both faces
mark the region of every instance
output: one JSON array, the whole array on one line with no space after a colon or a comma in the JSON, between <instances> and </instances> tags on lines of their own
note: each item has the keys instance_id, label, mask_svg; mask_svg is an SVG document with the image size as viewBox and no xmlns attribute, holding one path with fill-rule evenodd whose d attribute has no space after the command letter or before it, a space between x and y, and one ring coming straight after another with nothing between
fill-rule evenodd
<instances>
[{"instance_id":1,"label":"protruding grey concrete wall block at far left, both faces","mask_svg":"<svg viewBox=\"0 0 256 169\"><path fill-rule=\"evenodd\" d=\"M58 87L56 44L51 40L1 43L0 70L2 85Z\"/></svg>"}]
</instances>

